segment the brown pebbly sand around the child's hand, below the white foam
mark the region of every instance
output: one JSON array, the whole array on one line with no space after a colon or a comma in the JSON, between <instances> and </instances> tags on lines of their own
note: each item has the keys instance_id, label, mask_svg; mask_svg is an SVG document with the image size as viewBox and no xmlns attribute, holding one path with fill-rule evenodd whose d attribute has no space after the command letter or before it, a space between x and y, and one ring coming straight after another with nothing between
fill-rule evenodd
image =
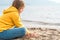
<instances>
[{"instance_id":1,"label":"brown pebbly sand around the child's hand, below the white foam","mask_svg":"<svg viewBox=\"0 0 60 40\"><path fill-rule=\"evenodd\" d=\"M48 28L28 28L32 32L39 33L38 38L17 38L13 40L60 40L60 30Z\"/></svg>"}]
</instances>

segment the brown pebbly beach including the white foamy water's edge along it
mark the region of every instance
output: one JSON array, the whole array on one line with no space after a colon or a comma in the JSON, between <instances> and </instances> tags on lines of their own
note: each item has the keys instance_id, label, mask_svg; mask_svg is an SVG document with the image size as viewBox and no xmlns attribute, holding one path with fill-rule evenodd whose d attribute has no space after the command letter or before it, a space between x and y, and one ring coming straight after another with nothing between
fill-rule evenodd
<instances>
[{"instance_id":1,"label":"brown pebbly beach including the white foamy water's edge along it","mask_svg":"<svg viewBox=\"0 0 60 40\"><path fill-rule=\"evenodd\" d=\"M37 38L17 38L13 40L60 40L60 28L57 25L42 25L32 21L23 21L25 26L31 32L37 32L39 37ZM28 24L27 24L28 23ZM35 25L34 25L35 24Z\"/></svg>"}]
</instances>

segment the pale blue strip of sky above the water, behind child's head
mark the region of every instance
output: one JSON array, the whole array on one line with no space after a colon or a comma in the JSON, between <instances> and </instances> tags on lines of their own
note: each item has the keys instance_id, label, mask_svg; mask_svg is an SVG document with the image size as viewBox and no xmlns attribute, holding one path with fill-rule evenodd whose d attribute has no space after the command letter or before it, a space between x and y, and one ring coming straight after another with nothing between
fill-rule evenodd
<instances>
[{"instance_id":1,"label":"pale blue strip of sky above the water, behind child's head","mask_svg":"<svg viewBox=\"0 0 60 40\"><path fill-rule=\"evenodd\" d=\"M13 0L0 0L0 5L11 5ZM26 5L41 6L41 5L60 5L60 0L24 0Z\"/></svg>"}]
</instances>

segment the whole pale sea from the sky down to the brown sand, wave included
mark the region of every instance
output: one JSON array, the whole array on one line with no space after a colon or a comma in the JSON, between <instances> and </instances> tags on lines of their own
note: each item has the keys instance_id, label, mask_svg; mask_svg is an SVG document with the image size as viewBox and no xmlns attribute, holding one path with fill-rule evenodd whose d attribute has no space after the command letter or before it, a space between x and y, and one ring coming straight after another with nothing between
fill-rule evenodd
<instances>
[{"instance_id":1,"label":"whole pale sea from the sky down to the brown sand, wave included","mask_svg":"<svg viewBox=\"0 0 60 40\"><path fill-rule=\"evenodd\" d=\"M0 16L10 5L0 6ZM21 19L26 27L60 29L60 6L25 6Z\"/></svg>"}]
</instances>

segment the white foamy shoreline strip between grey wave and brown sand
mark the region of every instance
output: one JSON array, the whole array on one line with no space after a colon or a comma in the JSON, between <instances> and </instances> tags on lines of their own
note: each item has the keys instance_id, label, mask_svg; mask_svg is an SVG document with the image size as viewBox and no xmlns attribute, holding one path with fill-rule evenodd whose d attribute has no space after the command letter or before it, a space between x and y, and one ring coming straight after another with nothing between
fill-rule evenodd
<instances>
[{"instance_id":1,"label":"white foamy shoreline strip between grey wave and brown sand","mask_svg":"<svg viewBox=\"0 0 60 40\"><path fill-rule=\"evenodd\" d=\"M27 28L48 28L48 29L60 29L59 25L48 25L39 22L22 21Z\"/></svg>"}]
</instances>

